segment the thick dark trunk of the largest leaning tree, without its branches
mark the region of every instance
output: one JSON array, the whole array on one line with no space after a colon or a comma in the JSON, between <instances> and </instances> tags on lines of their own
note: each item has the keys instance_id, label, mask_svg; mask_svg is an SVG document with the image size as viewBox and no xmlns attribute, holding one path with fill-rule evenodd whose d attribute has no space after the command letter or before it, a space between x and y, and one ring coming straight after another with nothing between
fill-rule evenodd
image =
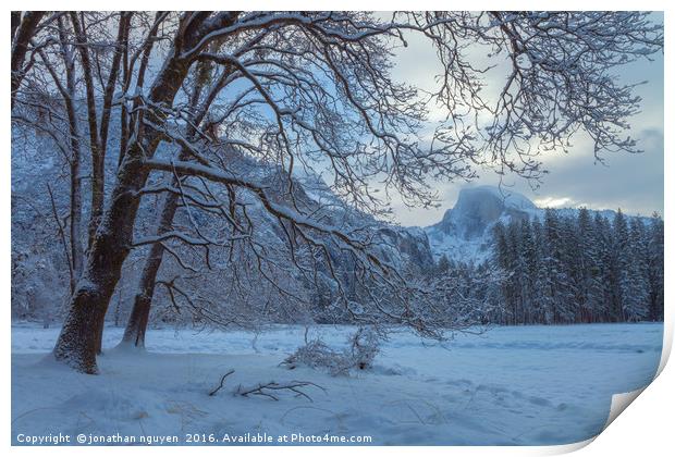
<instances>
[{"instance_id":1,"label":"thick dark trunk of the largest leaning tree, without its branches","mask_svg":"<svg viewBox=\"0 0 675 457\"><path fill-rule=\"evenodd\" d=\"M164 61L144 100L146 114L161 122L167 118L164 107L173 103L181 84L187 76L194 57L186 49L198 46L212 32L231 26L237 13L185 13L175 32L173 49ZM134 125L110 202L103 212L88 251L87 264L71 298L71 310L54 347L54 357L76 368L95 373L98 332L110 297L120 279L124 259L132 246L134 221L139 197L136 194L148 176L144 158L151 157L161 140L161 132L146 123Z\"/></svg>"}]
</instances>

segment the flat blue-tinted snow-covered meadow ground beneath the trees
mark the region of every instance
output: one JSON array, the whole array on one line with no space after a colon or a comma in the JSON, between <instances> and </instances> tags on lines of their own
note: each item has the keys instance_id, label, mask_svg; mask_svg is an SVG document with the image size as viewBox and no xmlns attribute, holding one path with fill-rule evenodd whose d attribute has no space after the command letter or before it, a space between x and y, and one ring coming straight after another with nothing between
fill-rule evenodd
<instances>
[{"instance_id":1,"label":"flat blue-tinted snow-covered meadow ground beneath the trees","mask_svg":"<svg viewBox=\"0 0 675 457\"><path fill-rule=\"evenodd\" d=\"M347 328L314 329L342 345ZM564 444L598 434L612 394L648 384L661 356L662 324L496 328L443 348L394 335L370 372L333 378L279 367L303 328L260 335L152 330L148 353L109 349L101 374L77 374L45 359L58 329L12 329L12 435L361 436L372 444ZM109 329L112 348L120 329ZM224 387L213 390L234 369ZM238 384L311 381L314 402L280 394L233 395ZM246 435L249 433L250 435ZM25 437L22 437L25 440ZM221 444L226 444L222 443ZM293 444L298 444L297 442Z\"/></svg>"}]
</instances>

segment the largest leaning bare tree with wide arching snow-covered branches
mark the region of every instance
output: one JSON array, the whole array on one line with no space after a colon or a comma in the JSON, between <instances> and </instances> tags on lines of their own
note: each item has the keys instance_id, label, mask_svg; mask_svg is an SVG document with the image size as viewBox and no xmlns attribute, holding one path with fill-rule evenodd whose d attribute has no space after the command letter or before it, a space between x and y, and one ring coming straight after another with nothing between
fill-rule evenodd
<instances>
[{"instance_id":1,"label":"largest leaning bare tree with wide arching snow-covered branches","mask_svg":"<svg viewBox=\"0 0 675 457\"><path fill-rule=\"evenodd\" d=\"M81 23L75 33L82 45L82 17L72 14L71 21ZM152 85L121 97L131 103L126 148L54 347L58 360L88 373L97 371L93 329L100 326L122 263L138 245L134 222L151 172L173 176L161 192L179 195L189 211L219 212L231 230L214 239L195 222L192 233L162 228L143 245L171 238L207 251L246 243L265 273L274 263L263 264L265 243L250 231L256 223L237 223L246 220L248 199L283 227L296 270L315 282L324 271L353 319L438 335L456 320L443 318L429 285L384 261L366 227L346 226L303 202L293 176L303 169L323 171L345 207L380 218L386 201L378 198L379 188L396 192L408 205L429 206L435 202L430 178L470 178L476 164L536 178L539 153L565 148L579 129L594 139L598 157L608 149L635 151L623 129L638 100L633 86L608 75L662 47L662 28L633 12L403 12L389 18L195 12L171 26L171 47L158 55L163 65ZM442 65L431 99L447 118L431 136L422 135L428 104L421 94L390 73L392 53L410 34L434 46ZM481 95L489 66L472 62L476 46L495 59L510 58L498 100ZM86 65L82 53L81 61ZM199 103L186 102L184 83L196 64L231 75L213 86L208 104L209 90ZM200 106L208 107L205 122L195 115ZM175 145L179 157L156 157L161 141ZM233 151L278 166L277 184L242 173L230 160ZM205 184L184 185L187 178ZM231 192L221 198L211 188ZM331 252L348 257L351 269L340 271ZM356 294L344 289L343 273L352 276Z\"/></svg>"}]
</instances>

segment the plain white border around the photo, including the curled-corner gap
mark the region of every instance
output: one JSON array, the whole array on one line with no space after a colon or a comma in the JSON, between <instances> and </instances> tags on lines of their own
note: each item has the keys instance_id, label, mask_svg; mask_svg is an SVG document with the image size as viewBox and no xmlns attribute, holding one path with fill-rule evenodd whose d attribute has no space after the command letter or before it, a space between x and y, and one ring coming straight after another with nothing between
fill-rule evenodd
<instances>
[{"instance_id":1,"label":"plain white border around the photo, including the curled-corner gap","mask_svg":"<svg viewBox=\"0 0 675 457\"><path fill-rule=\"evenodd\" d=\"M5 3L7 4L7 3ZM664 125L670 126L673 125L673 106L675 100L673 99L672 91L672 83L675 77L675 72L673 71L673 39L671 39L671 30L672 30L672 21L671 21L671 8L673 2L667 1L654 1L654 0L642 0L642 1L612 1L612 2L600 2L600 1L584 1L584 0L567 0L567 1L486 1L486 0L472 0L472 1L453 1L449 3L445 1L416 1L414 7L415 9L420 10L444 10L452 8L453 10L466 9L466 10L488 10L488 9L496 9L496 10L515 10L515 9L541 9L542 7L555 10L655 10L655 11L665 11L665 28L666 28L666 46L665 46L665 119ZM48 1L35 1L35 0L24 0L19 3L10 3L8 7L12 8L21 8L23 10L108 10L111 7L115 7L115 9L123 10L180 10L181 8L185 8L185 1L128 1L128 0L118 0L114 3L110 2L101 2L101 1L82 1L82 0L68 0L60 2L48 2ZM333 9L339 10L405 10L410 9L412 3L409 1L370 1L370 0L360 0L360 1L341 1L329 3L319 3L317 1L297 1L297 0L287 0L287 1L279 1L279 0L247 0L246 2L216 2L216 1L204 1L204 0L192 0L188 3L189 8L193 10L208 10L208 9L224 9L224 8L237 8L245 7L247 10L253 9L280 9L280 10L316 10L316 9L327 9L328 7L332 7ZM274 8L275 7L275 8ZM3 27L0 29L9 30L9 9L5 9L2 17ZM9 113L10 113L10 100L9 100L9 87L10 87L10 72L9 72L9 46L7 40L4 41L2 48L2 64L3 64L3 77L5 81L4 87L5 90L1 98L2 106L0 107L0 112L4 119L2 124L2 128L4 132L4 145L3 148L4 157L2 166L0 166L0 184L2 185L2 190L0 192L0 205L3 211L3 217L0 218L0 249L3 252L2 262L0 262L0 271L1 271L1 286L0 293L2 294L1 304L4 306L4 318L7 319L4 324L7 325L4 329L9 328L9 319L10 319L10 249L11 249L11 238L10 238L10 122L9 122ZM670 131L666 128L664 132L664 147L666 151L672 150L673 148L673 139ZM673 177L673 169L675 166L675 160L671 157L670 153L665 155L665 194L673 195L675 192L674 186L671 183L671 178ZM666 322L665 322L665 332L664 332L664 353L662 355L661 366L659 368L659 372L661 373L659 378L648 386L645 392L639 395L639 397L635 400L635 404L630 406L630 411L628 413L621 415L616 421L612 422L611 425L601 433L593 442L593 440L589 440L584 443L576 443L564 446L532 446L532 447L443 447L443 446L426 446L426 447L368 447L368 448L349 448L348 450L344 447L321 447L318 449L317 447L269 447L269 448L255 448L255 447L237 447L237 448L221 448L221 447L200 447L198 449L191 449L189 453L198 452L200 454L209 454L209 455L218 455L222 456L229 453L236 453L236 455L253 455L257 453L273 453L274 455L315 455L317 452L320 452L322 455L342 455L347 450L349 454L354 453L356 455L360 454L375 454L375 455L386 455L388 457L400 456L400 455L410 455L410 454L425 454L425 455L557 455L564 454L573 450L577 450L582 448L578 455L584 456L599 456L599 455L630 455L634 456L637 453L642 455L665 455L667 453L666 449L672 449L672 418L673 418L673 392L671 386L675 385L673 382L675 380L675 374L673 368L666 368L665 362L670 355L673 342L673 306L670 304L671 287L668 286L668 280L673 277L672 274L668 274L673 271L673 258L668 255L668 248L671 247L670 240L673 238L673 224L671 223L671 217L674 214L671 207L671 201L665 199L665 208L664 208L664 220L665 231L666 231L666 259L665 259L665 268L666 268L666 288L665 288L665 302L666 302ZM2 366L5 368L5 374L2 378L3 388L2 388L2 405L9 409L9 405L11 402L11 391L10 384L11 379L9 375L9 367L10 367L10 350L11 350L11 332L5 331L2 337L3 350L1 354L2 357ZM621 398L618 398L621 399ZM625 403L625 397L624 397ZM628 402L629 403L629 402ZM2 443L4 446L10 446L10 433L11 433L11 424L10 424L10 411L5 410L2 416ZM593 442L592 445L587 446L589 443ZM182 455L186 450L184 448L171 448L171 447L154 447L154 448L143 448L145 453L150 455ZM128 452L132 449L125 449ZM111 448L111 447L97 447L96 449L90 449L86 447L52 447L49 450L44 448L36 447L12 447L10 449L11 453L16 455L42 455L46 452L49 452L50 455L61 456L68 455L69 457L73 454L75 455L84 455L96 453L97 455L113 455L119 454L120 449ZM136 453L133 449L134 454Z\"/></svg>"}]
</instances>

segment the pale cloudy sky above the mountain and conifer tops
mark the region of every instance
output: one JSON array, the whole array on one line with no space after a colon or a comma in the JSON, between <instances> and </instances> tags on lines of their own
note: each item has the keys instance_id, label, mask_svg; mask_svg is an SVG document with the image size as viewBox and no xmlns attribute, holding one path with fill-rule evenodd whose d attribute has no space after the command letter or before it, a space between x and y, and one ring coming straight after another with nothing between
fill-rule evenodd
<instances>
[{"instance_id":1,"label":"pale cloudy sky above the mountain and conifer tops","mask_svg":"<svg viewBox=\"0 0 675 457\"><path fill-rule=\"evenodd\" d=\"M655 15L663 22L663 15ZM480 55L476 57L481 59ZM637 88L642 97L641 113L630 120L628 134L638 139L643 153L605 153L605 164L594 163L592 144L585 137L574 138L569 153L548 153L543 164L550 171L536 190L524 180L506 176L508 190L518 192L541 207L579 207L616 209L634 214L663 213L663 55L654 54L653 62L640 61L623 69L625 83L647 81ZM433 50L421 40L412 39L397 57L395 76L398 81L433 87ZM496 79L496 76L495 76ZM487 90L491 82L487 79ZM494 81L493 87L501 81ZM469 185L498 185L499 176L486 171ZM437 188L443 203L439 209L408 209L393 201L396 220L403 225L430 225L438 222L454 205L466 183L439 183Z\"/></svg>"}]
</instances>

